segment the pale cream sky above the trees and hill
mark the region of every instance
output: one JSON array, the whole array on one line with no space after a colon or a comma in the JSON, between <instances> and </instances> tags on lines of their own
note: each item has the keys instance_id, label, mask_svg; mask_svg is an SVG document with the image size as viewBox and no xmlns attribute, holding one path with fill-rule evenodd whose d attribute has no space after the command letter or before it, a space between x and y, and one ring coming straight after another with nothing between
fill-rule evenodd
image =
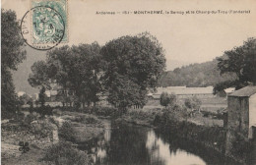
<instances>
[{"instance_id":1,"label":"pale cream sky above the trees and hill","mask_svg":"<svg viewBox=\"0 0 256 165\"><path fill-rule=\"evenodd\" d=\"M30 7L30 0L2 0L2 8L16 11L18 20ZM250 10L250 14L96 15L96 12L144 10ZM255 19L256 1L253 0L69 0L69 41L65 44L97 41L103 45L122 35L150 31L165 49L166 69L172 70L181 65L211 61L222 56L225 50L241 45L248 37L255 37ZM28 53L32 53L28 57L34 60L36 56L45 59L45 51Z\"/></svg>"}]
</instances>

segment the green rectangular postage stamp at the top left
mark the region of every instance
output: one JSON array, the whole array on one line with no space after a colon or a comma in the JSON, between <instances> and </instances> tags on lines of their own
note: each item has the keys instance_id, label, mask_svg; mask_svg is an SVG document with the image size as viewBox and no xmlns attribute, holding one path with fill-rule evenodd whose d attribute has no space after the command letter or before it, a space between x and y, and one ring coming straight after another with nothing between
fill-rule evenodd
<instances>
[{"instance_id":1,"label":"green rectangular postage stamp at the top left","mask_svg":"<svg viewBox=\"0 0 256 165\"><path fill-rule=\"evenodd\" d=\"M32 43L68 41L67 0L32 0Z\"/></svg>"}]
</instances>

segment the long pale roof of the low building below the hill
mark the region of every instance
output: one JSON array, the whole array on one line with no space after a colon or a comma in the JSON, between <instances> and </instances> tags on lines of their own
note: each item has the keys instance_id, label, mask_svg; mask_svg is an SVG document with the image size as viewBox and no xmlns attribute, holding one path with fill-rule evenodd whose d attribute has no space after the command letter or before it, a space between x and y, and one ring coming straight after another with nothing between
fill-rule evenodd
<instances>
[{"instance_id":1,"label":"long pale roof of the low building below the hill","mask_svg":"<svg viewBox=\"0 0 256 165\"><path fill-rule=\"evenodd\" d=\"M167 92L168 94L174 93L177 95L186 95L186 94L213 94L213 86L208 87L177 87L177 88L168 88L168 87L158 87L158 91L154 94L161 94L162 92Z\"/></svg>"}]
</instances>

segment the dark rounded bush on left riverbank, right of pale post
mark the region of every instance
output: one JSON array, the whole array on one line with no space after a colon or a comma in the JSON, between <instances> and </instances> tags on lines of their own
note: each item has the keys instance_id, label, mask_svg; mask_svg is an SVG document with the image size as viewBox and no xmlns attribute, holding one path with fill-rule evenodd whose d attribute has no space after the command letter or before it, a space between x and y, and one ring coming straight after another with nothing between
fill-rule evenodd
<instances>
[{"instance_id":1,"label":"dark rounded bush on left riverbank, right of pale post","mask_svg":"<svg viewBox=\"0 0 256 165\"><path fill-rule=\"evenodd\" d=\"M75 132L72 128L71 122L64 122L61 128L59 129L59 137L64 138L68 141L75 140Z\"/></svg>"}]
</instances>

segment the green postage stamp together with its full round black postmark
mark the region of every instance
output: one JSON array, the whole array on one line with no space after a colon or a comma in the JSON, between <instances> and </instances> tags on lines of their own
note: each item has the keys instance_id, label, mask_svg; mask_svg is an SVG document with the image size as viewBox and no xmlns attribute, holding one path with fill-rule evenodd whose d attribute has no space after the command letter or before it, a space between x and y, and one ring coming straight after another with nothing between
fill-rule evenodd
<instances>
[{"instance_id":1,"label":"green postage stamp together with its full round black postmark","mask_svg":"<svg viewBox=\"0 0 256 165\"><path fill-rule=\"evenodd\" d=\"M32 1L32 8L21 22L21 32L28 45L49 50L68 41L67 1Z\"/></svg>"}]
</instances>

